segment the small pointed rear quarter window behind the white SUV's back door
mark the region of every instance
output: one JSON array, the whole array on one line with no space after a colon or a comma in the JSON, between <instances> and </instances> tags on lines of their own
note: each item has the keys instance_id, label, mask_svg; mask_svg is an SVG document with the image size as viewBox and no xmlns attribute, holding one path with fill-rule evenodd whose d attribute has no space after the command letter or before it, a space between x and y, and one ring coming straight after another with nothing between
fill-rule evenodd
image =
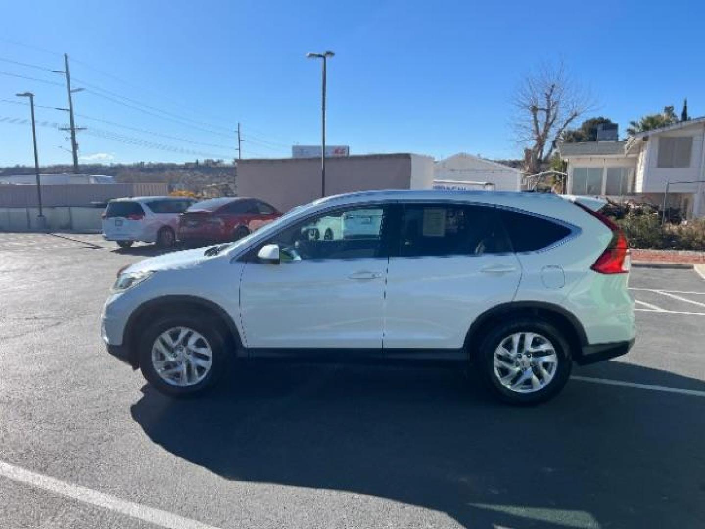
<instances>
[{"instance_id":1,"label":"small pointed rear quarter window behind the white SUV's back door","mask_svg":"<svg viewBox=\"0 0 705 529\"><path fill-rule=\"evenodd\" d=\"M570 229L557 222L510 209L497 209L516 253L548 248L570 235Z\"/></svg>"}]
</instances>

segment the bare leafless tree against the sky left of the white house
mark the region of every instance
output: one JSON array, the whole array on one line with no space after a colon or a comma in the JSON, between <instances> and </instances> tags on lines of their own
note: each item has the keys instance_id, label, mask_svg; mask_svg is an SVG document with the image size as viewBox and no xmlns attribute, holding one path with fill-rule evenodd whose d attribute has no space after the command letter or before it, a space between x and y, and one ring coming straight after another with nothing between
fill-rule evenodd
<instances>
[{"instance_id":1,"label":"bare leafless tree against the sky left of the white house","mask_svg":"<svg viewBox=\"0 0 705 529\"><path fill-rule=\"evenodd\" d=\"M536 174L551 158L560 135L594 109L594 98L563 63L544 63L526 75L512 98L516 140L525 147L525 171Z\"/></svg>"}]
</instances>

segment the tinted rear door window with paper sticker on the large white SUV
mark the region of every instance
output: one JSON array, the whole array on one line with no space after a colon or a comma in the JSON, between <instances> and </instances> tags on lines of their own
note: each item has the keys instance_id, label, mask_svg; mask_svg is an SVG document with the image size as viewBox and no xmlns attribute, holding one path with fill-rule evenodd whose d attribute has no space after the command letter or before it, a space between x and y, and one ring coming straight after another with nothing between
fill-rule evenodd
<instances>
[{"instance_id":1,"label":"tinted rear door window with paper sticker on the large white SUV","mask_svg":"<svg viewBox=\"0 0 705 529\"><path fill-rule=\"evenodd\" d=\"M483 255L507 253L511 247L494 207L406 205L399 255Z\"/></svg>"}]
</instances>

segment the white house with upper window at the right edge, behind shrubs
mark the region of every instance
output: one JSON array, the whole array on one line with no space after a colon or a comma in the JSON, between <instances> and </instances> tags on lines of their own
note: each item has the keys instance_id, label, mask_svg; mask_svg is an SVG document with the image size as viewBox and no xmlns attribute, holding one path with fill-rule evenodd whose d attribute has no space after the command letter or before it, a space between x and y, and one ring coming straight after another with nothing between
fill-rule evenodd
<instances>
[{"instance_id":1,"label":"white house with upper window at the right edge, behind shrubs","mask_svg":"<svg viewBox=\"0 0 705 529\"><path fill-rule=\"evenodd\" d=\"M705 116L639 133L626 141L559 142L568 162L568 193L632 197L686 218L705 217ZM700 181L700 182L697 182Z\"/></svg>"}]
</instances>

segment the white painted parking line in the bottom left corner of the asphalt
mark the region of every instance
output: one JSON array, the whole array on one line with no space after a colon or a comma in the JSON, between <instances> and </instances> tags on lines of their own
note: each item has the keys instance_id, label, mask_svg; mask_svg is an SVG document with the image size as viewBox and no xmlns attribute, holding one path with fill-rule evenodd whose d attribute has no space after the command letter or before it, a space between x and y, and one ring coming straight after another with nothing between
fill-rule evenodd
<instances>
[{"instance_id":1,"label":"white painted parking line in the bottom left corner of the asphalt","mask_svg":"<svg viewBox=\"0 0 705 529\"><path fill-rule=\"evenodd\" d=\"M24 468L5 463L4 461L0 461L0 475L37 489L54 492L54 494L61 494L61 496L103 507L104 509L109 509L110 511L115 511L125 516L131 516L138 520L160 525L168 529L218 529L214 527L214 525L208 525L207 523L201 523L190 518L184 518L178 514L168 513L146 505L137 504L134 501L116 498L110 494L97 492L87 489L86 487L81 487L80 485L73 485L65 481L57 480L56 478L49 478L49 476L32 472L31 470L25 470Z\"/></svg>"}]
</instances>

